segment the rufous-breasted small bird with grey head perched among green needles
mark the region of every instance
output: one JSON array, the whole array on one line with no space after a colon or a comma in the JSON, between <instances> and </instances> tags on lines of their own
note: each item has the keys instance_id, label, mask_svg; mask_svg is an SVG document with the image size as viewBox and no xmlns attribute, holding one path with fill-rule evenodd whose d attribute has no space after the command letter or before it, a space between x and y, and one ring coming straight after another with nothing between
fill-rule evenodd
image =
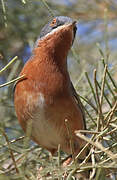
<instances>
[{"instance_id":1,"label":"rufous-breasted small bird with grey head perched among green needles","mask_svg":"<svg viewBox=\"0 0 117 180\"><path fill-rule=\"evenodd\" d=\"M16 114L26 132L32 122L31 139L52 155L58 150L78 154L84 142L75 134L83 130L85 114L67 69L68 52L76 35L76 21L57 16L46 24L33 55L24 65L15 85Z\"/></svg>"}]
</instances>

